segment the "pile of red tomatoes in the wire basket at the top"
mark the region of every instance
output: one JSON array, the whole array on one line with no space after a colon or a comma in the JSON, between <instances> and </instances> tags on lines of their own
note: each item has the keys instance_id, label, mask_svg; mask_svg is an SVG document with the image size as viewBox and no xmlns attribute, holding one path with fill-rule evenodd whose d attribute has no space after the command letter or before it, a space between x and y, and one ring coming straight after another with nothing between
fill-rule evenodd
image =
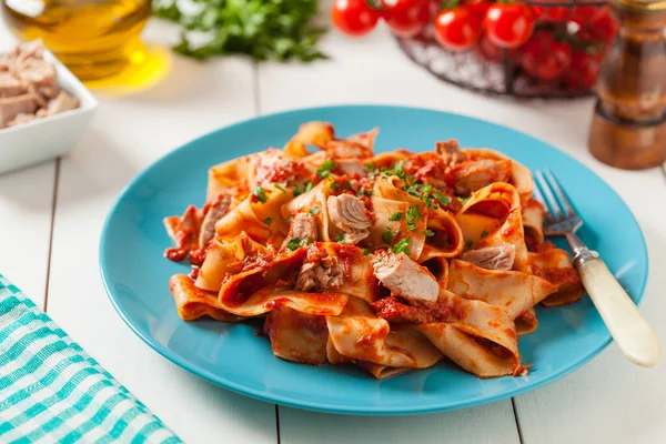
<instances>
[{"instance_id":1,"label":"pile of red tomatoes in the wire basket at the top","mask_svg":"<svg viewBox=\"0 0 666 444\"><path fill-rule=\"evenodd\" d=\"M607 6L575 0L334 0L333 23L350 36L371 32L380 20L400 38L432 27L450 51L516 61L528 77L588 89L617 24ZM588 0L595 1L595 0Z\"/></svg>"}]
</instances>

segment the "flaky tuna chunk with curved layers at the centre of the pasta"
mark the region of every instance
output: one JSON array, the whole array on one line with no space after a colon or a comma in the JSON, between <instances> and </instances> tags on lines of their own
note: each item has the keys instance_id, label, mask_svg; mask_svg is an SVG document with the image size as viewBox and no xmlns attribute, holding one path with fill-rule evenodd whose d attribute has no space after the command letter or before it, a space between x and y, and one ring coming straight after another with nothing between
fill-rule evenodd
<instances>
[{"instance_id":1,"label":"flaky tuna chunk with curved layers at the centre of the pasta","mask_svg":"<svg viewBox=\"0 0 666 444\"><path fill-rule=\"evenodd\" d=\"M372 219L361 199L351 194L331 195L326 201L331 222L344 232L344 241L355 244L370 235Z\"/></svg>"}]
</instances>

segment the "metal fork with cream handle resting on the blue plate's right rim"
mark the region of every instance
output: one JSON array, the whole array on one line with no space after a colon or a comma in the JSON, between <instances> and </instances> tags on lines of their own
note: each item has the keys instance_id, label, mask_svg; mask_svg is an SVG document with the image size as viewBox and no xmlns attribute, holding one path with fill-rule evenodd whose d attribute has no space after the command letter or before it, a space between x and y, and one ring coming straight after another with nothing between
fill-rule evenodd
<instances>
[{"instance_id":1,"label":"metal fork with cream handle resting on the blue plate's right rim","mask_svg":"<svg viewBox=\"0 0 666 444\"><path fill-rule=\"evenodd\" d=\"M645 367L655 365L662 354L662 346L655 331L643 317L638 307L617 282L599 254L589 250L576 236L575 233L583 226L583 221L555 175L546 170L545 172L536 171L535 176L535 198L546 209L544 234L566 238L574 253L573 262L581 275L581 281L624 355L629 361ZM548 211L548 206L551 211Z\"/></svg>"}]
</instances>

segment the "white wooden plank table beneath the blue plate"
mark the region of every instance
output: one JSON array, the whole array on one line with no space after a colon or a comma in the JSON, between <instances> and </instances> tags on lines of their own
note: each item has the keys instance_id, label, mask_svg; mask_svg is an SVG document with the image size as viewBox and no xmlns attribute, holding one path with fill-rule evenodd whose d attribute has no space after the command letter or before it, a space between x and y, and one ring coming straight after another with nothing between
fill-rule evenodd
<instances>
[{"instance_id":1,"label":"white wooden plank table beneath the blue plate","mask_svg":"<svg viewBox=\"0 0 666 444\"><path fill-rule=\"evenodd\" d=\"M157 22L145 32L149 41L171 34ZM12 42L0 24L0 49ZM385 29L362 41L331 32L322 44L332 59L311 65L174 57L174 69L152 90L102 98L71 155L0 176L0 273L186 442L665 443L665 365L638 369L614 345L575 373L511 401L422 416L354 417L228 392L167 361L124 325L102 287L98 244L111 203L141 169L193 138L259 114L392 103L515 128L599 174L643 229L650 261L643 312L666 336L665 175L658 169L614 170L591 157L585 141L592 100L521 103L460 90L406 60Z\"/></svg>"}]
</instances>

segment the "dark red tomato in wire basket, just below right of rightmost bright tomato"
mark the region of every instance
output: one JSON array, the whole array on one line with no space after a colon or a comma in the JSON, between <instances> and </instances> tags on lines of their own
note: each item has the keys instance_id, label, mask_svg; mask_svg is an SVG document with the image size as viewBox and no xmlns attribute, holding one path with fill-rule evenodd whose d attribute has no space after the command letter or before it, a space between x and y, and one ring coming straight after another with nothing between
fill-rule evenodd
<instances>
[{"instance_id":1,"label":"dark red tomato in wire basket, just below right of rightmost bright tomato","mask_svg":"<svg viewBox=\"0 0 666 444\"><path fill-rule=\"evenodd\" d=\"M572 62L572 46L558 41L548 31L536 31L521 48L521 67L527 74L542 80L555 80Z\"/></svg>"}]
</instances>

